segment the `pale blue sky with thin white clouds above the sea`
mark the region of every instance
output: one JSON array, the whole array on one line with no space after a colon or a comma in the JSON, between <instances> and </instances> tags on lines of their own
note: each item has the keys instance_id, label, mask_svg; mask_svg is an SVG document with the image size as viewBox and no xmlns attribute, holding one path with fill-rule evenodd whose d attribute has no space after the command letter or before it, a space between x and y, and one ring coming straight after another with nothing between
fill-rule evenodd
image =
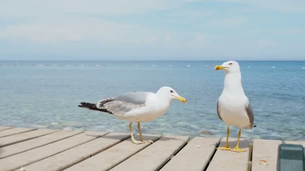
<instances>
[{"instance_id":1,"label":"pale blue sky with thin white clouds above the sea","mask_svg":"<svg viewBox=\"0 0 305 171\"><path fill-rule=\"evenodd\" d=\"M0 4L0 60L305 60L305 0Z\"/></svg>"}]
</instances>

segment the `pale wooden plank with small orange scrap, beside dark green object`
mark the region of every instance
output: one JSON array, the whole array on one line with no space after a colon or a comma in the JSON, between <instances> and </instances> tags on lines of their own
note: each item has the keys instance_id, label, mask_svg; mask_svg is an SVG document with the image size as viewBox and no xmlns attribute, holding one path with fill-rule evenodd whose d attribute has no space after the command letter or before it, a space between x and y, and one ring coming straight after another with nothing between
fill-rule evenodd
<instances>
[{"instance_id":1,"label":"pale wooden plank with small orange scrap, beside dark green object","mask_svg":"<svg viewBox=\"0 0 305 171\"><path fill-rule=\"evenodd\" d=\"M252 150L252 171L276 171L277 152L280 140L254 139ZM268 165L261 164L260 160L268 161Z\"/></svg>"}]
</instances>

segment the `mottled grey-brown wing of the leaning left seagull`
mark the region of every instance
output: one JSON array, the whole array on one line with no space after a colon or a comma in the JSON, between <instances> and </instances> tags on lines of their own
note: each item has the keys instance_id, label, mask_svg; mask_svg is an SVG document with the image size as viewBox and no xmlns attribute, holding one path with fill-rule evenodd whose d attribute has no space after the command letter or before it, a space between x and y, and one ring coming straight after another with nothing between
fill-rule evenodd
<instances>
[{"instance_id":1,"label":"mottled grey-brown wing of the leaning left seagull","mask_svg":"<svg viewBox=\"0 0 305 171\"><path fill-rule=\"evenodd\" d=\"M148 92L127 92L115 98L108 98L98 102L98 108L105 108L109 112L123 116L126 112L145 106Z\"/></svg>"}]
</instances>

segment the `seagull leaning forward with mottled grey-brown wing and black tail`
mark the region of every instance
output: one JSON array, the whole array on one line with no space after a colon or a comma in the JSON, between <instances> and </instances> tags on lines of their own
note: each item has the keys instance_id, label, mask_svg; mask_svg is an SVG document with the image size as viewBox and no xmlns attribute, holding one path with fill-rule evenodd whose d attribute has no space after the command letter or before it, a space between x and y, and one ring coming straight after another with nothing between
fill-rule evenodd
<instances>
[{"instance_id":1,"label":"seagull leaning forward with mottled grey-brown wing and black tail","mask_svg":"<svg viewBox=\"0 0 305 171\"><path fill-rule=\"evenodd\" d=\"M118 97L102 99L97 103L81 102L81 105L78 106L107 112L120 120L128 120L131 141L135 144L140 144L144 142L153 143L152 140L143 140L140 122L151 121L162 116L168 111L173 99L178 99L184 103L187 102L173 88L163 86L156 93L143 91L126 92ZM133 136L133 122L137 122L140 141Z\"/></svg>"}]
</instances>

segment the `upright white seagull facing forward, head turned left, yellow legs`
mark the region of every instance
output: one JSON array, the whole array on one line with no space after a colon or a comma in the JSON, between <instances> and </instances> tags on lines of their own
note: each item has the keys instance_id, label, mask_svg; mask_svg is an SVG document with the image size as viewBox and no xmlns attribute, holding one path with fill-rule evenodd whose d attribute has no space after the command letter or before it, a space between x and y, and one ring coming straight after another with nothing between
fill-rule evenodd
<instances>
[{"instance_id":1,"label":"upright white seagull facing forward, head turned left, yellow legs","mask_svg":"<svg viewBox=\"0 0 305 171\"><path fill-rule=\"evenodd\" d=\"M246 151L239 148L241 129L251 129L255 125L253 124L254 115L251 104L242 88L239 64L236 61L227 61L222 65L215 66L215 69L223 69L225 72L224 88L217 101L217 113L219 118L227 125L226 145L217 149L236 152ZM230 125L239 128L237 145L233 149L228 144Z\"/></svg>"}]
</instances>

